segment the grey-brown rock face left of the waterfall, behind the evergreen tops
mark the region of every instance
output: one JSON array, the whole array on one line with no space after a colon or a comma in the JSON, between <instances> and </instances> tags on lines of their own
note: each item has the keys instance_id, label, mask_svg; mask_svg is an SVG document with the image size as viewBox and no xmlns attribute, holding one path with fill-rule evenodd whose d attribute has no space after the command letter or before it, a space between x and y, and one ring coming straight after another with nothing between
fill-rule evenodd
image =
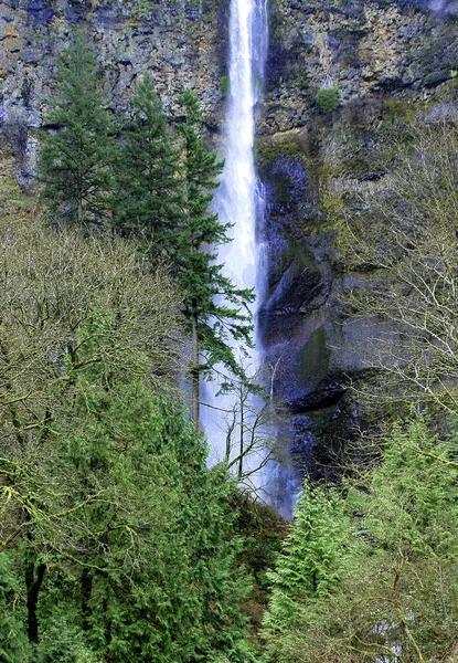
<instances>
[{"instance_id":1,"label":"grey-brown rock face left of the waterfall, behind the evergreen tops","mask_svg":"<svg viewBox=\"0 0 458 663\"><path fill-rule=\"evenodd\" d=\"M21 159L22 179L30 179L33 167L30 128L41 126L56 55L76 28L97 54L114 113L126 108L137 77L149 71L171 114L177 96L191 86L202 99L209 124L215 126L226 66L225 4L223 0L191 4L182 0L2 0L0 123L3 137Z\"/></svg>"}]
</instances>

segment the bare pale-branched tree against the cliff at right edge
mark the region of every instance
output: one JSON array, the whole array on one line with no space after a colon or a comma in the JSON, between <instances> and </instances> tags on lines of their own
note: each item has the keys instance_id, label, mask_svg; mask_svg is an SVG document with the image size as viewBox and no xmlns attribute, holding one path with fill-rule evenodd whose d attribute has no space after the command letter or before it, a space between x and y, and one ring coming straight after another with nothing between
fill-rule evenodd
<instances>
[{"instance_id":1,"label":"bare pale-branched tree against the cliff at right edge","mask_svg":"<svg viewBox=\"0 0 458 663\"><path fill-rule=\"evenodd\" d=\"M394 171L347 215L347 260L366 277L348 278L344 298L350 324L374 330L366 366L383 378L372 394L456 413L458 123L424 123L409 138Z\"/></svg>"}]
</instances>

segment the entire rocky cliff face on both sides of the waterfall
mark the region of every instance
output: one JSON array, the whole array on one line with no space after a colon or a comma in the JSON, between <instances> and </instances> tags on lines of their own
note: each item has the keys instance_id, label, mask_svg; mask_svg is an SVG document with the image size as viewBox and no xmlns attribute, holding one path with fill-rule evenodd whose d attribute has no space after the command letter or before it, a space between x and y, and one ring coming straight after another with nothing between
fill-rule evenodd
<instances>
[{"instance_id":1,"label":"entire rocky cliff face on both sides of the waterfall","mask_svg":"<svg viewBox=\"0 0 458 663\"><path fill-rule=\"evenodd\" d=\"M257 162L266 191L268 288L259 323L273 390L291 418L279 434L299 464L328 472L361 424L350 381L371 364L374 329L342 315L349 272L337 250L345 193L383 179L396 118L455 104L458 3L277 0L259 105ZM224 117L228 0L2 0L3 145L31 180L56 54L78 24L98 55L113 110L149 70L166 107L195 87L213 138ZM321 92L320 92L321 91ZM376 336L376 332L375 332Z\"/></svg>"}]
</instances>

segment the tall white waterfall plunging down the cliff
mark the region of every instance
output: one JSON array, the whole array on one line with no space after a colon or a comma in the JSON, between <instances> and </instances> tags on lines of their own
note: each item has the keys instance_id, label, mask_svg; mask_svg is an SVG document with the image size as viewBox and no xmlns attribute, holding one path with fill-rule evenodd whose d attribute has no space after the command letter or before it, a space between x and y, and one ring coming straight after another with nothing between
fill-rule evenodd
<instances>
[{"instance_id":1,"label":"tall white waterfall plunging down the cliff","mask_svg":"<svg viewBox=\"0 0 458 663\"><path fill-rule=\"evenodd\" d=\"M258 270L256 225L263 208L262 190L254 165L254 113L260 94L267 53L267 0L231 0L230 19L230 96L226 115L225 166L215 196L215 209L222 223L232 223L232 242L222 246L219 262L224 274L244 288L254 288L259 299L262 276ZM252 311L256 320L256 303ZM256 332L255 332L256 340ZM243 349L234 347L241 358ZM256 348L249 350L244 365L251 375L258 366ZM211 444L211 462L226 453L226 430L237 409L237 399L216 396L216 381L204 386L202 422ZM248 412L245 412L248 415ZM246 418L245 418L246 422ZM236 427L239 427L239 423ZM236 428L235 427L235 428ZM236 430L235 435L238 435ZM236 451L233 451L234 455ZM255 465L259 459L252 459Z\"/></svg>"}]
</instances>

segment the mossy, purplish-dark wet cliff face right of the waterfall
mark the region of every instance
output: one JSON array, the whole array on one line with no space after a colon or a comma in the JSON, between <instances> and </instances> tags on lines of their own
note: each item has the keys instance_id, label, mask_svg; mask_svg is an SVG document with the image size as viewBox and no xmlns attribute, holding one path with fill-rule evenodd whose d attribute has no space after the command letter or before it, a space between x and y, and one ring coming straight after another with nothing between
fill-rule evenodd
<instances>
[{"instance_id":1,"label":"mossy, purplish-dark wet cliff face right of the waterfall","mask_svg":"<svg viewBox=\"0 0 458 663\"><path fill-rule=\"evenodd\" d=\"M351 320L344 293L371 287L339 254L345 197L383 186L398 118L457 106L458 6L278 0L271 14L258 169L268 293L260 312L279 435L299 467L333 474L364 424L349 389L376 364L381 320ZM426 117L426 115L425 115ZM379 345L379 347L377 347Z\"/></svg>"}]
</instances>

